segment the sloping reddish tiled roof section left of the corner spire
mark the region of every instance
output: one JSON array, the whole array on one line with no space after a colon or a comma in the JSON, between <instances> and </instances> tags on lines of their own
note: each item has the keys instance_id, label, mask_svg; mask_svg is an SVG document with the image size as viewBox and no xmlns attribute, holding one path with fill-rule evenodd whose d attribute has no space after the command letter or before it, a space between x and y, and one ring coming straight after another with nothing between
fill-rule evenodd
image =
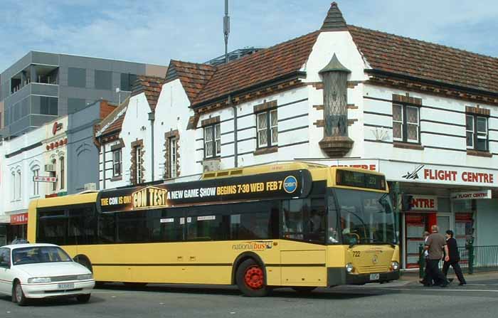
<instances>
[{"instance_id":1,"label":"sloping reddish tiled roof section left of the corner spire","mask_svg":"<svg viewBox=\"0 0 498 318\"><path fill-rule=\"evenodd\" d=\"M207 102L297 72L306 63L318 34L315 31L218 66L192 104Z\"/></svg>"}]
</instances>

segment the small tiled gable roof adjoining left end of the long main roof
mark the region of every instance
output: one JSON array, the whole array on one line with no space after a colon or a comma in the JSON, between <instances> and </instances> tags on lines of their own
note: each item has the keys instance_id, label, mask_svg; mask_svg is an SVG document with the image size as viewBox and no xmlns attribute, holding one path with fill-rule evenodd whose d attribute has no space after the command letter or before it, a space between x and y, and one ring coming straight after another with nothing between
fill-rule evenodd
<instances>
[{"instance_id":1,"label":"small tiled gable roof adjoining left end of the long main roof","mask_svg":"<svg viewBox=\"0 0 498 318\"><path fill-rule=\"evenodd\" d=\"M178 78L192 103L215 71L216 67L212 65L171 60L166 73L166 81L169 82Z\"/></svg>"}]
</instances>

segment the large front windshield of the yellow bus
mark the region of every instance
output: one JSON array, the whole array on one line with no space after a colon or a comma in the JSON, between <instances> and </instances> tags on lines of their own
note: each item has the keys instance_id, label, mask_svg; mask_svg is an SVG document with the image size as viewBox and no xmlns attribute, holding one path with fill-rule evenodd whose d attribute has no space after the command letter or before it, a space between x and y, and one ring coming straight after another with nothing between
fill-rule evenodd
<instances>
[{"instance_id":1,"label":"large front windshield of the yellow bus","mask_svg":"<svg viewBox=\"0 0 498 318\"><path fill-rule=\"evenodd\" d=\"M334 192L343 243L396 244L394 213L388 194L348 189L334 189Z\"/></svg>"}]
</instances>

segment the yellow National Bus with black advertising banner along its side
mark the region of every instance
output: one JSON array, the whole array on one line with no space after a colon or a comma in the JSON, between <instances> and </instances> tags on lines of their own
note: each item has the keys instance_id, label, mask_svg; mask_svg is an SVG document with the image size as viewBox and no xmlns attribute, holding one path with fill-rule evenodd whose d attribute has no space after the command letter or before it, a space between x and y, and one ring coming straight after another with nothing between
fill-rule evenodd
<instances>
[{"instance_id":1,"label":"yellow National Bus with black advertising banner along its side","mask_svg":"<svg viewBox=\"0 0 498 318\"><path fill-rule=\"evenodd\" d=\"M385 176L304 162L248 166L201 180L32 201L28 240L61 245L98 282L275 287L399 277Z\"/></svg>"}]
</instances>

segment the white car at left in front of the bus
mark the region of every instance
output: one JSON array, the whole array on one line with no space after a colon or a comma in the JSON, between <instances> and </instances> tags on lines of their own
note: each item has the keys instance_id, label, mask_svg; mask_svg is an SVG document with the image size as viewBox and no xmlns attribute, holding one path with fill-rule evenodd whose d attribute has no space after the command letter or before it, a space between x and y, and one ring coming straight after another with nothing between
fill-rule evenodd
<instances>
[{"instance_id":1,"label":"white car at left in front of the bus","mask_svg":"<svg viewBox=\"0 0 498 318\"><path fill-rule=\"evenodd\" d=\"M23 306L30 298L76 297L88 302L92 272L57 245L16 244L0 248L0 294Z\"/></svg>"}]
</instances>

